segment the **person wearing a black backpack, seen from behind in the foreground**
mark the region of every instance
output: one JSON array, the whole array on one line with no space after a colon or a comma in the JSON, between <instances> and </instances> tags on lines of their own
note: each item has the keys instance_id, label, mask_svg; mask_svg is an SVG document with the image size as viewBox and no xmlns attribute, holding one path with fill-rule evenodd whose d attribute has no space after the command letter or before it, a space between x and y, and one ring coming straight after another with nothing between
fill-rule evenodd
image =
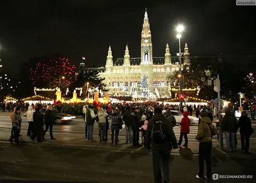
<instances>
[{"instance_id":1,"label":"person wearing a black backpack, seen from behind in the foreground","mask_svg":"<svg viewBox=\"0 0 256 183\"><path fill-rule=\"evenodd\" d=\"M177 140L173 132L172 124L164 117L161 108L156 107L152 119L148 122L146 133L146 149L152 145L154 182L167 183L170 181L169 158L170 150L177 149ZM160 161L163 164L163 180Z\"/></svg>"}]
</instances>

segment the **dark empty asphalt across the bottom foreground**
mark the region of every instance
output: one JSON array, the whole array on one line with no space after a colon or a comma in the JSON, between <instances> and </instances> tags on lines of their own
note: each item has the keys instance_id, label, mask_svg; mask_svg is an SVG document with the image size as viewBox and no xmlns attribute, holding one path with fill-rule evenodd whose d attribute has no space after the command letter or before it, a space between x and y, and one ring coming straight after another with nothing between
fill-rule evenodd
<instances>
[{"instance_id":1,"label":"dark empty asphalt across the bottom foreground","mask_svg":"<svg viewBox=\"0 0 256 183\"><path fill-rule=\"evenodd\" d=\"M198 156L189 152L173 153L170 158L170 182L199 182ZM150 151L127 147L125 150L99 150L26 143L0 142L0 179L70 182L153 182ZM212 156L212 173L254 175L254 157ZM202 181L204 182L204 181ZM222 179L217 182L241 182Z\"/></svg>"}]
</instances>

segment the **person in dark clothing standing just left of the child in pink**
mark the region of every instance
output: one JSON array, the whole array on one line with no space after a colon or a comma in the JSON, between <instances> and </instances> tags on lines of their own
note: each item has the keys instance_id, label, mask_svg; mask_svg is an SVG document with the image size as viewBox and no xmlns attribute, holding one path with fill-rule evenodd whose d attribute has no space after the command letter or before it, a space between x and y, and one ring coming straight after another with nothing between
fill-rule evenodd
<instances>
[{"instance_id":1,"label":"person in dark clothing standing just left of the child in pink","mask_svg":"<svg viewBox=\"0 0 256 183\"><path fill-rule=\"evenodd\" d=\"M132 145L140 146L139 136L140 136L140 108L137 106L132 113Z\"/></svg>"}]
</instances>

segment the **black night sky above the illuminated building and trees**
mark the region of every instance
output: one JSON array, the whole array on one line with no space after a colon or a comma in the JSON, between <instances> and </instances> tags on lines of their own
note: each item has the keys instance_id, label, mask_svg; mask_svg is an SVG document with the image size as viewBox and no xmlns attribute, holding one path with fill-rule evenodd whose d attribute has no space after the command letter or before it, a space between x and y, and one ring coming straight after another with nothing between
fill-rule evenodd
<instances>
[{"instance_id":1,"label":"black night sky above the illuminated building and trees","mask_svg":"<svg viewBox=\"0 0 256 183\"><path fill-rule=\"evenodd\" d=\"M182 50L187 42L191 56L222 53L244 62L245 55L256 55L255 6L236 6L235 0L6 0L0 8L0 58L12 73L31 57L56 52L76 66L82 56L87 66L104 66L109 44L114 61L124 57L126 43L131 57L140 57L145 8L153 57L164 56L166 43L175 55L179 23L186 27Z\"/></svg>"}]
</instances>

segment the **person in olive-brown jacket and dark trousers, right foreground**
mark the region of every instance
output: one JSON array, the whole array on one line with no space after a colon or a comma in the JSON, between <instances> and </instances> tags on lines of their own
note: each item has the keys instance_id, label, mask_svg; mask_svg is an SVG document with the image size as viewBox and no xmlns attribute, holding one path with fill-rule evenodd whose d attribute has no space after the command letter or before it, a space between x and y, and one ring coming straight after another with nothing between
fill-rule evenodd
<instances>
[{"instance_id":1,"label":"person in olive-brown jacket and dark trousers, right foreground","mask_svg":"<svg viewBox=\"0 0 256 183\"><path fill-rule=\"evenodd\" d=\"M212 151L212 136L217 134L217 129L212 124L207 112L202 112L199 115L201 122L198 126L196 140L199 142L198 161L199 173L197 179L204 179L204 161L207 167L205 179L210 180L212 174L211 167L211 151Z\"/></svg>"}]
</instances>

